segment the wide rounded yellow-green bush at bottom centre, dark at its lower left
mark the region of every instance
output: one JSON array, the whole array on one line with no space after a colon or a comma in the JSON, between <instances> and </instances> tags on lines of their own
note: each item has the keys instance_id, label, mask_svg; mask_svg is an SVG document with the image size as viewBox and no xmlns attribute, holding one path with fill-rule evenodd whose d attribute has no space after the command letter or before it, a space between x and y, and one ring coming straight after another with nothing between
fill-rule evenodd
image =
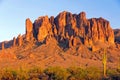
<instances>
[{"instance_id":1,"label":"wide rounded yellow-green bush at bottom centre, dark at its lower left","mask_svg":"<svg viewBox=\"0 0 120 80\"><path fill-rule=\"evenodd\" d=\"M69 76L67 70L61 67L49 67L44 72L49 76L49 79L53 80L67 80Z\"/></svg>"}]
</instances>

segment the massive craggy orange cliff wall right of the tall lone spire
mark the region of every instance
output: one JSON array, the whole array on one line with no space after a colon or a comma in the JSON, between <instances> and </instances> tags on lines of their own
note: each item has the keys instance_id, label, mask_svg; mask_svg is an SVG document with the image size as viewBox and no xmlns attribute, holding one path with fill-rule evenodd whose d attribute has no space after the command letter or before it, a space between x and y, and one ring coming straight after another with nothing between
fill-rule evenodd
<instances>
[{"instance_id":1,"label":"massive craggy orange cliff wall right of the tall lone spire","mask_svg":"<svg viewBox=\"0 0 120 80\"><path fill-rule=\"evenodd\" d=\"M87 19L85 12L72 14L64 11L55 18L39 17L33 23L33 32L39 42L43 42L47 36L52 36L68 47L79 42L85 45L92 45L97 41L114 43L114 32L109 21L103 18ZM79 39L76 40L75 37Z\"/></svg>"}]
</instances>

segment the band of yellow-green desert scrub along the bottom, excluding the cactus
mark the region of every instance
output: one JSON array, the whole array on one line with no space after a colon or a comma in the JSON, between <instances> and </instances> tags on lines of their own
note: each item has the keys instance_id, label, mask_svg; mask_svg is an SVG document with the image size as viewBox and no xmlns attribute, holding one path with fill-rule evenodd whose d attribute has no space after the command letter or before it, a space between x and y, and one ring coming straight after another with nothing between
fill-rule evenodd
<instances>
[{"instance_id":1,"label":"band of yellow-green desert scrub along the bottom, excluding the cactus","mask_svg":"<svg viewBox=\"0 0 120 80\"><path fill-rule=\"evenodd\" d=\"M119 80L120 70L107 70L108 79ZM97 67L40 67L0 69L0 80L104 80L102 69Z\"/></svg>"}]
</instances>

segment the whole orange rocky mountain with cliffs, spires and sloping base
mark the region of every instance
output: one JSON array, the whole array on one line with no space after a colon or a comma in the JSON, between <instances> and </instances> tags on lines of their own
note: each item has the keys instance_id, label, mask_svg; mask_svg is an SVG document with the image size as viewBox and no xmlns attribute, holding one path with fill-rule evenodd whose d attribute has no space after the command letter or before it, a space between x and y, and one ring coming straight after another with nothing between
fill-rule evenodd
<instances>
[{"instance_id":1,"label":"whole orange rocky mountain with cliffs, spires and sloping base","mask_svg":"<svg viewBox=\"0 0 120 80\"><path fill-rule=\"evenodd\" d=\"M73 64L101 67L106 50L109 66L116 67L120 57L117 32L102 17L87 19L85 12L72 14L63 11L56 17L41 16L34 23L28 18L25 25L24 35L1 43L1 63L6 60L13 62L6 64L9 66L24 62L29 66L44 67Z\"/></svg>"}]
</instances>

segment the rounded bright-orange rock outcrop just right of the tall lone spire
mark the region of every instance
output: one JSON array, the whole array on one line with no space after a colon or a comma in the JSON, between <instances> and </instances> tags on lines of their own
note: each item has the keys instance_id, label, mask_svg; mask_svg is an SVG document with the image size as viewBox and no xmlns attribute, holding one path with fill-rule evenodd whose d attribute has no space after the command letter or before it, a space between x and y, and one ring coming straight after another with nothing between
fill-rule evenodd
<instances>
[{"instance_id":1,"label":"rounded bright-orange rock outcrop just right of the tall lone spire","mask_svg":"<svg viewBox=\"0 0 120 80\"><path fill-rule=\"evenodd\" d=\"M34 22L34 30L39 42L43 42L48 35L52 35L52 24L48 16L39 17L38 20Z\"/></svg>"}]
</instances>

